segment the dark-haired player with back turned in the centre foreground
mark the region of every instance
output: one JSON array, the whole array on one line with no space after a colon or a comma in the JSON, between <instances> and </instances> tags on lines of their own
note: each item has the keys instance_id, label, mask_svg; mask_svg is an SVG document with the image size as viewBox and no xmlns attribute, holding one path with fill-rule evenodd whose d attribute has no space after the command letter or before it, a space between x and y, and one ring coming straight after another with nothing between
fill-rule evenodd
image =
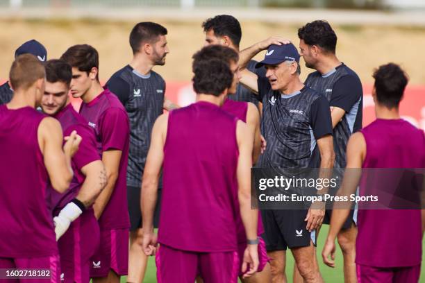
<instances>
[{"instance_id":1,"label":"dark-haired player with back turned in the centre foreground","mask_svg":"<svg viewBox=\"0 0 425 283\"><path fill-rule=\"evenodd\" d=\"M161 115L153 126L143 175L142 244L147 255L156 252L153 210L163 168L156 255L160 282L194 282L197 275L206 282L237 282L235 214L241 215L247 235L242 273L249 265L244 274L249 277L258 268L258 211L251 209L249 178L253 140L247 126L221 108L235 82L228 62L206 55L215 47L193 57L197 103Z\"/></svg>"}]
</instances>

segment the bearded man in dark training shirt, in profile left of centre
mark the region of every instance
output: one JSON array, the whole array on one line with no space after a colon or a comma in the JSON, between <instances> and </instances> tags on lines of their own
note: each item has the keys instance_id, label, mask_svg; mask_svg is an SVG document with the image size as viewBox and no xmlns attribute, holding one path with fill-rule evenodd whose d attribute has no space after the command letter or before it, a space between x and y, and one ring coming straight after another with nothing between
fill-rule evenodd
<instances>
[{"instance_id":1,"label":"bearded man in dark training shirt, in profile left of centre","mask_svg":"<svg viewBox=\"0 0 425 283\"><path fill-rule=\"evenodd\" d=\"M163 114L163 109L178 107L165 98L165 80L153 71L153 67L165 65L165 57L169 53L166 35L167 29L160 24L136 24L130 33L133 60L113 74L106 83L106 87L124 105L130 120L127 200L131 228L127 282L142 282L147 266L147 257L138 244L143 237L140 189L153 123ZM160 202L156 208L156 227L159 207Z\"/></svg>"}]
</instances>

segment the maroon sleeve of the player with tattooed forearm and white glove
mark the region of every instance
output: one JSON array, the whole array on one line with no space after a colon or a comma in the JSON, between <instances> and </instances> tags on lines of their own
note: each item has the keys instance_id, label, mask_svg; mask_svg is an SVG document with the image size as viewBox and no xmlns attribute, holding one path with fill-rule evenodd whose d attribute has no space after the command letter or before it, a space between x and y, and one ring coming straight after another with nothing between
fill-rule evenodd
<instances>
[{"instance_id":1,"label":"maroon sleeve of the player with tattooed forearm and white glove","mask_svg":"<svg viewBox=\"0 0 425 283\"><path fill-rule=\"evenodd\" d=\"M65 135L70 135L73 130L76 130L77 134L81 136L81 143L78 151L72 157L72 162L78 170L81 170L85 165L101 158L97 152L94 131L85 126L74 125L66 130Z\"/></svg>"}]
</instances>

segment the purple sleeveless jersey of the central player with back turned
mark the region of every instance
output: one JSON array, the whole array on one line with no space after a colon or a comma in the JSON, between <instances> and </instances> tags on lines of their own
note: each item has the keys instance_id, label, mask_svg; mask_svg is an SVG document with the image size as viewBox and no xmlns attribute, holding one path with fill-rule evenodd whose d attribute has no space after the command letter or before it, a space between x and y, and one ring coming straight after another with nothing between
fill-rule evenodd
<instances>
[{"instance_id":1,"label":"purple sleeveless jersey of the central player with back turned","mask_svg":"<svg viewBox=\"0 0 425 283\"><path fill-rule=\"evenodd\" d=\"M237 250L237 119L200 101L169 113L158 241L178 250Z\"/></svg>"}]
</instances>

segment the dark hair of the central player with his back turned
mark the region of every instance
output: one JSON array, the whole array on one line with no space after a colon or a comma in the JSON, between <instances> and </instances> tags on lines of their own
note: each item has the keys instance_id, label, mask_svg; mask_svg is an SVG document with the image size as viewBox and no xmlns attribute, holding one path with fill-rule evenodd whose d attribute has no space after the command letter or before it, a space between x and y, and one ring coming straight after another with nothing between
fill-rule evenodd
<instances>
[{"instance_id":1,"label":"dark hair of the central player with his back turned","mask_svg":"<svg viewBox=\"0 0 425 283\"><path fill-rule=\"evenodd\" d=\"M230 49L226 46L210 45L193 55L192 78L193 89L197 94L212 94L219 96L225 89L231 87L233 72L229 62L222 58L210 56L213 49Z\"/></svg>"}]
</instances>

